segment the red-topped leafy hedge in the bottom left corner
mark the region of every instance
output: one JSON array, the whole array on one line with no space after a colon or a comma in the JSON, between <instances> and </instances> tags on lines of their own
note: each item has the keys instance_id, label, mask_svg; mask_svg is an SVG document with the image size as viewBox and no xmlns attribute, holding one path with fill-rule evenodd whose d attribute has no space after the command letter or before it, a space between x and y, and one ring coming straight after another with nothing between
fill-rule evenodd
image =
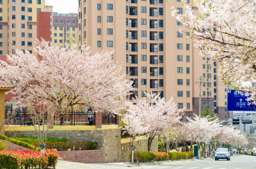
<instances>
[{"instance_id":1,"label":"red-topped leafy hedge in the bottom left corner","mask_svg":"<svg viewBox=\"0 0 256 169\"><path fill-rule=\"evenodd\" d=\"M0 151L0 168L47 168L55 167L60 154L47 150L45 155L35 151Z\"/></svg>"}]
</instances>

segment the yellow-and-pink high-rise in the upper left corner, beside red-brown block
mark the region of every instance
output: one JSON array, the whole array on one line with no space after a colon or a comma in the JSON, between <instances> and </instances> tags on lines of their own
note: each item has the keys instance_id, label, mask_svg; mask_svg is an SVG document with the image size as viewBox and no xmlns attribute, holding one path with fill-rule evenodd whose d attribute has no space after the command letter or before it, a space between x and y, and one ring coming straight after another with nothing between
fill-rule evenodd
<instances>
[{"instance_id":1,"label":"yellow-and-pink high-rise in the upper left corner, beside red-brown block","mask_svg":"<svg viewBox=\"0 0 256 169\"><path fill-rule=\"evenodd\" d=\"M0 55L15 49L32 53L36 47L36 13L45 10L45 0L0 0Z\"/></svg>"}]
</instances>

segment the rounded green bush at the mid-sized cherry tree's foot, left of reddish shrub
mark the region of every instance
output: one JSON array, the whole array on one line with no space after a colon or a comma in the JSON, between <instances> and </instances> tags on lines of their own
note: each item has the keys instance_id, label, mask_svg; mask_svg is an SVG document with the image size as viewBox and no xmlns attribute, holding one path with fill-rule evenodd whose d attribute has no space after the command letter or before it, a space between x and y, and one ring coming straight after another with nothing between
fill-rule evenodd
<instances>
[{"instance_id":1,"label":"rounded green bush at the mid-sized cherry tree's foot, left of reddish shrub","mask_svg":"<svg viewBox=\"0 0 256 169\"><path fill-rule=\"evenodd\" d=\"M129 161L131 161L131 153L128 156ZM156 158L156 155L153 154L152 152L141 152L141 151L136 151L134 152L134 162L138 163L147 163L151 162ZM136 161L138 159L138 161Z\"/></svg>"}]
</instances>

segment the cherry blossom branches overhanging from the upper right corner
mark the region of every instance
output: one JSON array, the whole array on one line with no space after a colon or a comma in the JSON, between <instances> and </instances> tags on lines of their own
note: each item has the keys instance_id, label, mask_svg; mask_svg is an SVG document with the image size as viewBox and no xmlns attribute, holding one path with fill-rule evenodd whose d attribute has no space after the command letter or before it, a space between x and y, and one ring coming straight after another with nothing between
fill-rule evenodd
<instances>
[{"instance_id":1,"label":"cherry blossom branches overhanging from the upper right corner","mask_svg":"<svg viewBox=\"0 0 256 169\"><path fill-rule=\"evenodd\" d=\"M172 14L191 29L189 38L194 47L201 55L218 63L218 73L223 81L239 90L252 91L254 101L255 1L198 0L195 1L196 7L191 7L182 0L182 4L183 14L178 14L173 7Z\"/></svg>"}]
</instances>

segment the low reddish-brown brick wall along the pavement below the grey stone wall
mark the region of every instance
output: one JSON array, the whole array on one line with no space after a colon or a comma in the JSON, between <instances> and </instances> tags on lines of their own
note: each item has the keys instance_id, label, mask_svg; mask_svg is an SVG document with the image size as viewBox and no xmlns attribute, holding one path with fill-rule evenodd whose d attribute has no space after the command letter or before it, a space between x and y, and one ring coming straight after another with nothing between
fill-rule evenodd
<instances>
[{"instance_id":1,"label":"low reddish-brown brick wall along the pavement below the grey stone wall","mask_svg":"<svg viewBox=\"0 0 256 169\"><path fill-rule=\"evenodd\" d=\"M93 151L59 151L64 161L76 163L103 163L102 150Z\"/></svg>"}]
</instances>

